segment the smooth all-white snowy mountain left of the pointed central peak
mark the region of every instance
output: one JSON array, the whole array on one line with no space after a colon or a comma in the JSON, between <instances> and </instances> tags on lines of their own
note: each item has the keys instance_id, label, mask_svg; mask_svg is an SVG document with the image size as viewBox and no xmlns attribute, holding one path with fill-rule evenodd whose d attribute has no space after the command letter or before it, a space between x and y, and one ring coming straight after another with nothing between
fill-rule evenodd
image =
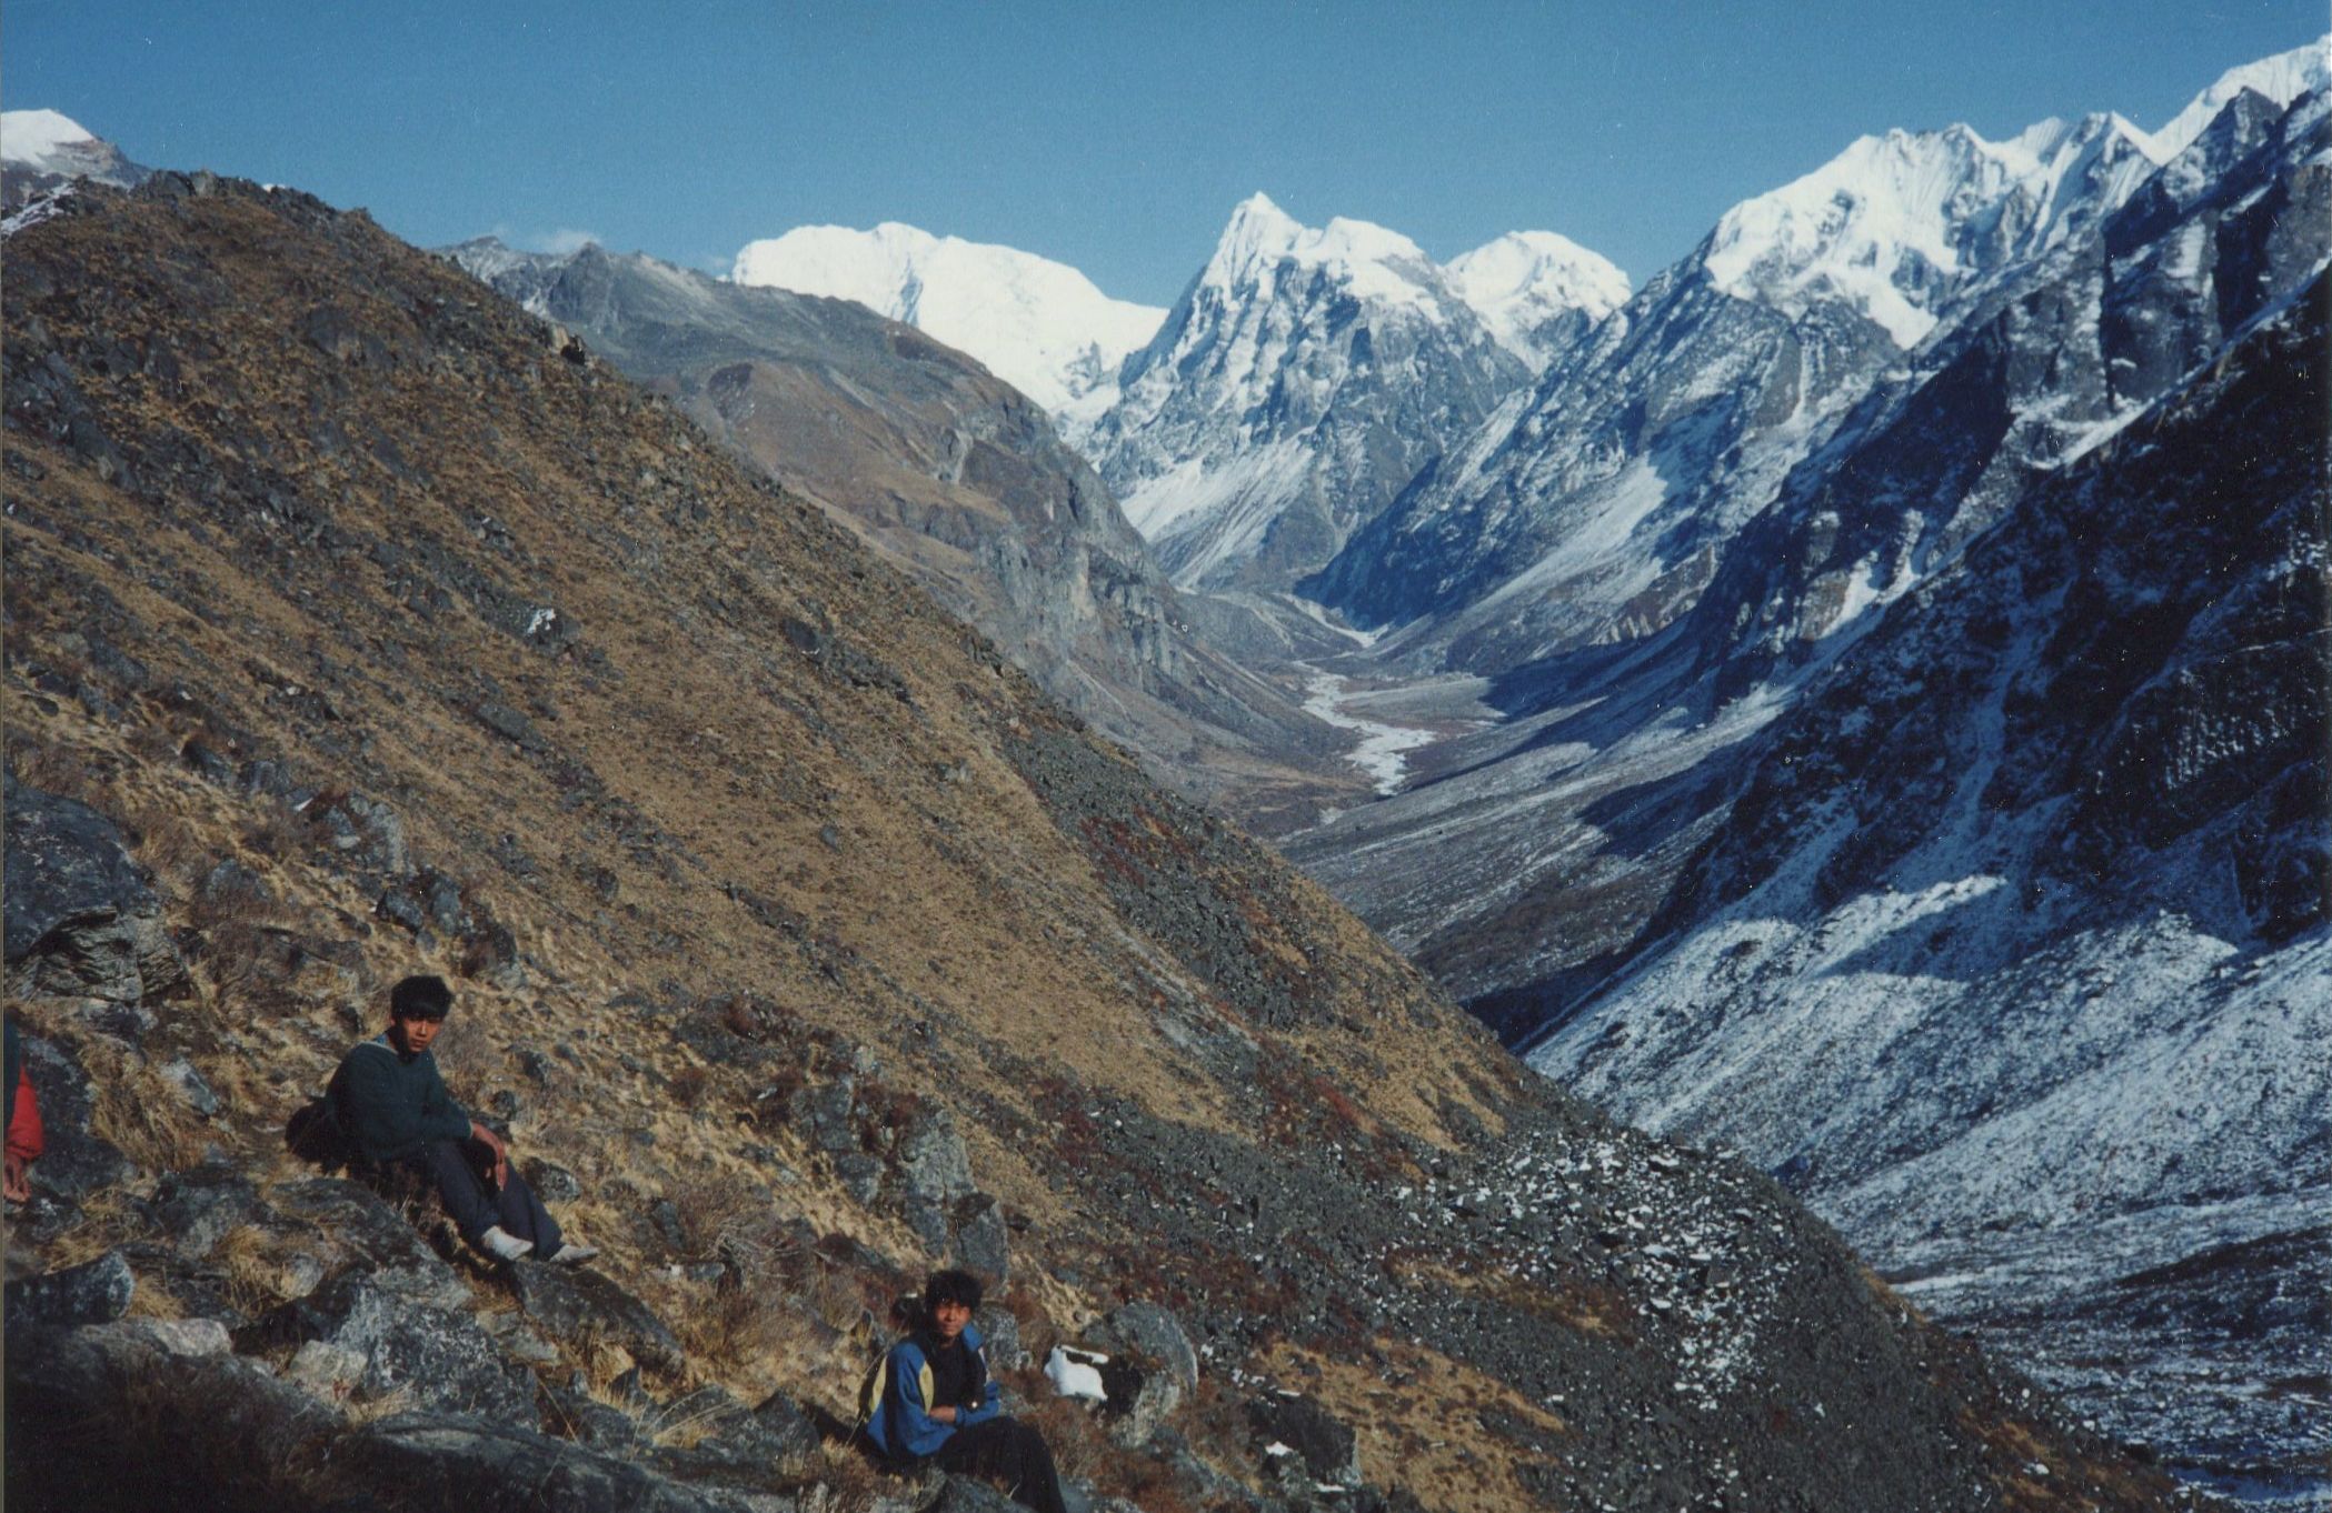
<instances>
[{"instance_id":1,"label":"smooth all-white snowy mountain left of the pointed central peak","mask_svg":"<svg viewBox=\"0 0 2332 1513\"><path fill-rule=\"evenodd\" d=\"M874 231L800 226L749 242L730 277L854 298L970 352L1056 415L1108 403L1117 366L1166 317L1110 298L1068 263L898 221Z\"/></svg>"}]
</instances>

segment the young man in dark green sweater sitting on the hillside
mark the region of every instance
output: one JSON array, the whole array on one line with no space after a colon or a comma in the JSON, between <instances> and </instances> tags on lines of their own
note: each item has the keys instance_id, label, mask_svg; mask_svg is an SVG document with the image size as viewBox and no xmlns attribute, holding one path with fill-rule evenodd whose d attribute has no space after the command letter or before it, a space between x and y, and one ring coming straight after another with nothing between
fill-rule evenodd
<instances>
[{"instance_id":1,"label":"young man in dark green sweater sitting on the hillside","mask_svg":"<svg viewBox=\"0 0 2332 1513\"><path fill-rule=\"evenodd\" d=\"M574 1266L599 1254L560 1240L527 1180L511 1170L501 1135L462 1112L438 1077L429 1042L445 1028L452 991L441 977L406 977L389 991L389 1028L340 1058L324 1107L366 1161L427 1173L462 1238L501 1261L536 1257ZM480 1177L469 1163L476 1142L492 1156Z\"/></svg>"}]
</instances>

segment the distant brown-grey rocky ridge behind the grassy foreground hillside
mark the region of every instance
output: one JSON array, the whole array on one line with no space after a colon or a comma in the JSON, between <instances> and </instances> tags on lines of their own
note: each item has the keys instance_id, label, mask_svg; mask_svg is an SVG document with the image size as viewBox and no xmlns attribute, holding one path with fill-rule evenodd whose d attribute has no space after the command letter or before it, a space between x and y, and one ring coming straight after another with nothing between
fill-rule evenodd
<instances>
[{"instance_id":1,"label":"distant brown-grey rocky ridge behind the grassy foreground hillside","mask_svg":"<svg viewBox=\"0 0 2332 1513\"><path fill-rule=\"evenodd\" d=\"M1269 828L1357 788L1301 678L1196 632L1224 611L1185 601L1047 415L961 352L639 254L448 256L826 504L1178 790Z\"/></svg>"}]
</instances>

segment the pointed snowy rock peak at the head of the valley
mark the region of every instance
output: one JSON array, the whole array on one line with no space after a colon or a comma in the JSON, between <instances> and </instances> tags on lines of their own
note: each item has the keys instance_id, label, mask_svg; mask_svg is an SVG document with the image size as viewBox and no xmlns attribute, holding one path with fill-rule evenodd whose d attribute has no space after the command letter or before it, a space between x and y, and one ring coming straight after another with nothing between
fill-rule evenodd
<instances>
[{"instance_id":1,"label":"pointed snowy rock peak at the head of the valley","mask_svg":"<svg viewBox=\"0 0 2332 1513\"><path fill-rule=\"evenodd\" d=\"M1416 242L1257 193L1084 441L1178 583L1280 587L1527 378Z\"/></svg>"}]
</instances>

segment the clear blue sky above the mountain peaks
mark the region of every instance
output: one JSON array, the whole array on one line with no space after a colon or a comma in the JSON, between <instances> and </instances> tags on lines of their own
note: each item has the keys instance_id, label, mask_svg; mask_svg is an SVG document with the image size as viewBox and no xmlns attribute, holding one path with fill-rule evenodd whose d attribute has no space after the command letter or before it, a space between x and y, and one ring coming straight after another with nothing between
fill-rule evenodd
<instances>
[{"instance_id":1,"label":"clear blue sky above the mountain peaks","mask_svg":"<svg viewBox=\"0 0 2332 1513\"><path fill-rule=\"evenodd\" d=\"M1441 259L1560 231L1644 280L1861 133L2150 128L2325 26L2323 0L7 0L0 103L422 245L590 233L725 270L898 219L1168 303L1257 189Z\"/></svg>"}]
</instances>

